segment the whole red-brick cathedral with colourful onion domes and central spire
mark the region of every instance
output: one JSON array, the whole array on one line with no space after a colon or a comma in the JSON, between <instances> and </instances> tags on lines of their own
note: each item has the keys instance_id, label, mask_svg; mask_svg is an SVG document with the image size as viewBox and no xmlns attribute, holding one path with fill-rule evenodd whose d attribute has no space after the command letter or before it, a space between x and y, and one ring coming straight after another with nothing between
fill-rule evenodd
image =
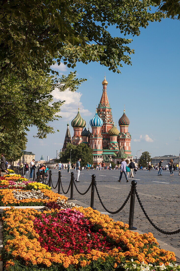
<instances>
[{"instance_id":1,"label":"whole red-brick cathedral with colourful onion domes and central spire","mask_svg":"<svg viewBox=\"0 0 180 271\"><path fill-rule=\"evenodd\" d=\"M114 126L112 120L112 108L110 107L107 96L106 77L102 81L103 92L96 108L95 116L90 120L92 132L86 129L86 122L79 113L72 120L71 126L74 130L74 135L71 140L69 132L69 124L64 140L62 151L65 151L67 143L78 145L80 143L87 144L93 149L94 164L99 164L104 161L109 163L113 161L119 164L122 158L131 159L131 135L128 132L129 119L125 114L119 119L119 130ZM83 130L84 128L84 130Z\"/></svg>"}]
</instances>

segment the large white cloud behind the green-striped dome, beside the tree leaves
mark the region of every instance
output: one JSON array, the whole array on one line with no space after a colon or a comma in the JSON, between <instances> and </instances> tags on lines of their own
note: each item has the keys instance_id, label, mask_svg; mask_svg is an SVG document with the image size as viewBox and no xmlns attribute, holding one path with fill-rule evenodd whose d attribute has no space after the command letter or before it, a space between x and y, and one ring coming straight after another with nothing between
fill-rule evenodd
<instances>
[{"instance_id":1,"label":"large white cloud behind the green-striped dome, beside the tree leaves","mask_svg":"<svg viewBox=\"0 0 180 271\"><path fill-rule=\"evenodd\" d=\"M80 108L80 114L84 116L90 116L92 113L85 109L80 102L82 93L81 92L71 92L66 90L64 92L60 92L58 88L55 88L52 92L54 96L54 100L65 101L64 104L61 106L61 112L59 113L65 120L69 120L69 122L76 116L78 113L78 107Z\"/></svg>"}]
</instances>

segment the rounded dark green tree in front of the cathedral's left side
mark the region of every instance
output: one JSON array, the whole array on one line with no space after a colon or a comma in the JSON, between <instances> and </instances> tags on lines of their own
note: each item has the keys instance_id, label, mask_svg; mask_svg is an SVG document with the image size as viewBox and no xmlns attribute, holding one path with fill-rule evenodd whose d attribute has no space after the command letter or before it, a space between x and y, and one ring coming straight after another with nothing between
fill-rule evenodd
<instances>
[{"instance_id":1,"label":"rounded dark green tree in front of the cathedral's left side","mask_svg":"<svg viewBox=\"0 0 180 271\"><path fill-rule=\"evenodd\" d=\"M71 151L72 149L72 151ZM92 149L89 148L86 144L81 143L79 145L73 145L68 143L65 151L61 152L60 160L63 163L70 161L71 153L71 163L76 163L76 161L81 158L81 166L85 166L88 162L93 164Z\"/></svg>"}]
</instances>

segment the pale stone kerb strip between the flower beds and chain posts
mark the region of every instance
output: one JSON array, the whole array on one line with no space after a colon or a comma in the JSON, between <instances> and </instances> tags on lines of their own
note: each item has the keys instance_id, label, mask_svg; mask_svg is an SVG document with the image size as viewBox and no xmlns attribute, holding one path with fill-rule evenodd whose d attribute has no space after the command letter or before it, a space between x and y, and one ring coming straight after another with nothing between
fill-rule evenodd
<instances>
[{"instance_id":1,"label":"pale stone kerb strip between the flower beds and chain posts","mask_svg":"<svg viewBox=\"0 0 180 271\"><path fill-rule=\"evenodd\" d=\"M64 195L64 194L62 194L62 195ZM64 195L64 196L66 196L66 195ZM84 204L83 202L78 201L78 200L76 200L76 199L75 199L75 200L68 200L68 202L74 202L75 204L81 205L81 206L84 207L84 208L89 207L88 205L86 205L86 204ZM97 211L98 211L98 210L97 210ZM101 214L109 214L108 212L100 212L100 213L101 213ZM115 221L116 221L116 220L115 220ZM142 231L136 230L136 232L138 232L139 234L143 234ZM170 245L164 243L164 242L161 241L161 240L158 240L158 239L156 239L156 240L157 240L157 242L159 243L161 249L173 251L173 252L175 253L175 256L176 256L176 263L180 264L180 250L177 249L176 247L172 247L172 246L170 246Z\"/></svg>"}]
</instances>

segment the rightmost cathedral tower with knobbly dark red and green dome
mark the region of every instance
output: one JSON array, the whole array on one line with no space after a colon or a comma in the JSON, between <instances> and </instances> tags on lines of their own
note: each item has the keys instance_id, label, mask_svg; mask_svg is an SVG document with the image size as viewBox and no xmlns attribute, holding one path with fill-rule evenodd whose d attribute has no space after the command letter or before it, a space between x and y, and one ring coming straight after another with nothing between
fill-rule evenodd
<instances>
[{"instance_id":1,"label":"rightmost cathedral tower with knobbly dark red and green dome","mask_svg":"<svg viewBox=\"0 0 180 271\"><path fill-rule=\"evenodd\" d=\"M125 114L122 115L122 117L119 119L119 128L120 133L118 135L117 141L120 147L123 147L124 153L128 156L131 156L131 135L128 133L128 126L129 126L129 119Z\"/></svg>"}]
</instances>

